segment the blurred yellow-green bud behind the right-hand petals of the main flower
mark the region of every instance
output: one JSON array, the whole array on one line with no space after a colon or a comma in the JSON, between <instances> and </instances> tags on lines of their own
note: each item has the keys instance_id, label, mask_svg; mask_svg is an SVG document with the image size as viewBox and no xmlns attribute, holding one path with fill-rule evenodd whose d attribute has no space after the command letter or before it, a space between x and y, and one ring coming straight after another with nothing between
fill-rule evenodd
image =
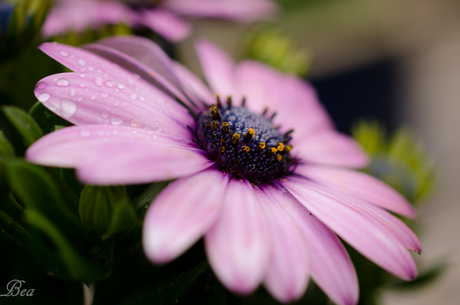
<instances>
[{"instance_id":1,"label":"blurred yellow-green bud behind the right-hand petals of the main flower","mask_svg":"<svg viewBox=\"0 0 460 305\"><path fill-rule=\"evenodd\" d=\"M407 128L388 136L376 122L359 122L353 137L372 160L365 172L383 180L417 203L431 194L436 184L436 168L418 137Z\"/></svg>"}]
</instances>

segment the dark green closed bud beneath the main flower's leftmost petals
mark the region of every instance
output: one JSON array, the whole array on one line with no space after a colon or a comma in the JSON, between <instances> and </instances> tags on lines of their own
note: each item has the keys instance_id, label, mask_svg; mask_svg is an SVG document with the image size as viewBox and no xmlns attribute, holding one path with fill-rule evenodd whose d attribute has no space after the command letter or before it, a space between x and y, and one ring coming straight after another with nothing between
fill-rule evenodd
<instances>
[{"instance_id":1,"label":"dark green closed bud beneath the main flower's leftmost petals","mask_svg":"<svg viewBox=\"0 0 460 305\"><path fill-rule=\"evenodd\" d=\"M136 224L136 213L122 186L86 185L81 192L79 213L83 227L103 239L129 232Z\"/></svg>"}]
</instances>

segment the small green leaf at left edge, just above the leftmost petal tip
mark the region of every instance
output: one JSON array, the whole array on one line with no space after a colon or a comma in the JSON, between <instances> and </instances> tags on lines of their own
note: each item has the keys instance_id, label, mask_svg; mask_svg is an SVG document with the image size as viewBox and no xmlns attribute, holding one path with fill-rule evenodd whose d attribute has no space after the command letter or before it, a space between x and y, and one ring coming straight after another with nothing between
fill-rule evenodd
<instances>
[{"instance_id":1,"label":"small green leaf at left edge, just above the leftmost petal tip","mask_svg":"<svg viewBox=\"0 0 460 305\"><path fill-rule=\"evenodd\" d=\"M3 106L2 109L8 120L22 135L24 144L26 146L30 146L41 136L43 136L37 123L24 110L15 106Z\"/></svg>"}]
</instances>

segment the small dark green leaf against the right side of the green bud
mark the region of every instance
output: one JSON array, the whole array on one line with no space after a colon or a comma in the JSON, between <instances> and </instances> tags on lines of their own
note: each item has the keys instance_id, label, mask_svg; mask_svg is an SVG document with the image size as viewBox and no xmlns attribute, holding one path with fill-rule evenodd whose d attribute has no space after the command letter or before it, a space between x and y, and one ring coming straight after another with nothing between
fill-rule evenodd
<instances>
[{"instance_id":1,"label":"small dark green leaf against the right side of the green bud","mask_svg":"<svg viewBox=\"0 0 460 305\"><path fill-rule=\"evenodd\" d=\"M123 200L113 209L109 230L102 238L107 239L115 234L128 233L136 226L136 222L136 211L127 200Z\"/></svg>"}]
</instances>

